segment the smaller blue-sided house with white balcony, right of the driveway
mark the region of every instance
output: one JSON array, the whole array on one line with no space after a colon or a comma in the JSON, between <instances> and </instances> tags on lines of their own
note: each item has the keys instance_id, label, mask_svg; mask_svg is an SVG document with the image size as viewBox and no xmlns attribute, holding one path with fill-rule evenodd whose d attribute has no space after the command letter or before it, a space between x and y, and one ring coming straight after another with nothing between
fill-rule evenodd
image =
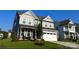
<instances>
[{"instance_id":1,"label":"smaller blue-sided house with white balcony, right of the driveway","mask_svg":"<svg viewBox=\"0 0 79 59\"><path fill-rule=\"evenodd\" d=\"M61 21L58 26L59 39L76 39L76 25L71 19Z\"/></svg>"}]
</instances>

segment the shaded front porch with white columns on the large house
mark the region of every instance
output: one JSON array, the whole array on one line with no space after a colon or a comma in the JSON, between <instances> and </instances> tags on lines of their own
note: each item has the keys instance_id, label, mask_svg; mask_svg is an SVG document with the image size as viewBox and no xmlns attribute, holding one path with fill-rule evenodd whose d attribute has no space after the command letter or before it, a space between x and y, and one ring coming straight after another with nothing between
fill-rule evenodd
<instances>
[{"instance_id":1,"label":"shaded front porch with white columns on the large house","mask_svg":"<svg viewBox=\"0 0 79 59\"><path fill-rule=\"evenodd\" d=\"M36 37L35 29L20 28L19 40L35 40Z\"/></svg>"}]
</instances>

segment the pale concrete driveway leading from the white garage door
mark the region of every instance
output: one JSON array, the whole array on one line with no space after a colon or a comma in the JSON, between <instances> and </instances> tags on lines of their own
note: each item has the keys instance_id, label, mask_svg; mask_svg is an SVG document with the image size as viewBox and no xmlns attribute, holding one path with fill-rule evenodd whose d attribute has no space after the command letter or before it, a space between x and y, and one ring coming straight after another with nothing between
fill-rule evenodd
<instances>
[{"instance_id":1,"label":"pale concrete driveway leading from the white garage door","mask_svg":"<svg viewBox=\"0 0 79 59\"><path fill-rule=\"evenodd\" d=\"M64 45L71 48L79 48L79 44L73 43L73 42L62 42L62 41L54 41L53 43L57 43L60 45Z\"/></svg>"}]
</instances>

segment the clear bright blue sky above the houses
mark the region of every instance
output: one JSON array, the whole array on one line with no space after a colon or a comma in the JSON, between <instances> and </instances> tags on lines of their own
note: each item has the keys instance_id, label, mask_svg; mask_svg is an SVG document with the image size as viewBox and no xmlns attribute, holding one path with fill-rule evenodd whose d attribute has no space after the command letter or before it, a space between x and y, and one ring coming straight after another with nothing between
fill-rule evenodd
<instances>
[{"instance_id":1,"label":"clear bright blue sky above the houses","mask_svg":"<svg viewBox=\"0 0 79 59\"><path fill-rule=\"evenodd\" d=\"M0 10L0 28L3 31L8 31L13 27L13 21L17 10ZM26 12L27 10L20 10ZM35 14L40 16L50 16L55 21L62 21L65 19L72 19L72 21L79 23L79 10L32 10Z\"/></svg>"}]
</instances>

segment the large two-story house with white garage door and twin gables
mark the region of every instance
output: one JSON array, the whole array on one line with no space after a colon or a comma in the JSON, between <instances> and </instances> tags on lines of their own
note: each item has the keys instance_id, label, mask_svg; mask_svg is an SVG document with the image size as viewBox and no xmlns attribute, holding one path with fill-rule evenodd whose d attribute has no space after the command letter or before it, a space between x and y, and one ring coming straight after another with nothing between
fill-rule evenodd
<instances>
[{"instance_id":1,"label":"large two-story house with white garage door and twin gables","mask_svg":"<svg viewBox=\"0 0 79 59\"><path fill-rule=\"evenodd\" d=\"M38 16L32 11L16 12L13 24L13 33L19 40L37 38L36 27L42 19L43 39L46 41L57 41L57 30L54 27L54 21L50 16Z\"/></svg>"}]
</instances>

